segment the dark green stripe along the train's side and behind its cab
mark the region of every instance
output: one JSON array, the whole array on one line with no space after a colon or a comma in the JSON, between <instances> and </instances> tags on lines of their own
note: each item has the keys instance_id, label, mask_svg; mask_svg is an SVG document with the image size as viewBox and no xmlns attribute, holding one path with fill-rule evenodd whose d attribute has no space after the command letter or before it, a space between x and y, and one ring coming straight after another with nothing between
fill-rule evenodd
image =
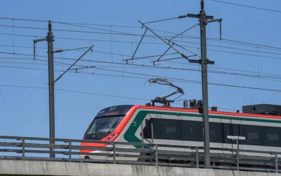
<instances>
[{"instance_id":1,"label":"dark green stripe along the train's side and behind its cab","mask_svg":"<svg viewBox=\"0 0 281 176\"><path fill-rule=\"evenodd\" d=\"M144 120L147 114L159 114L159 115L171 115L171 116L187 116L187 117L200 117L200 114L187 114L187 113L178 113L178 112L163 112L163 111L144 111L141 110L134 120L134 122L130 125L128 130L124 134L124 139L127 142L141 143L141 140L135 136L135 133L141 122ZM268 123L281 123L279 120L270 120L270 119L254 119L254 118L238 118L238 117L226 117L226 116L215 116L209 115L210 118L214 119L231 119L231 120L242 120L242 121L255 121L255 122L268 122ZM142 146L135 146L136 148L142 148ZM145 149L150 149L150 147L145 146Z\"/></svg>"}]
</instances>

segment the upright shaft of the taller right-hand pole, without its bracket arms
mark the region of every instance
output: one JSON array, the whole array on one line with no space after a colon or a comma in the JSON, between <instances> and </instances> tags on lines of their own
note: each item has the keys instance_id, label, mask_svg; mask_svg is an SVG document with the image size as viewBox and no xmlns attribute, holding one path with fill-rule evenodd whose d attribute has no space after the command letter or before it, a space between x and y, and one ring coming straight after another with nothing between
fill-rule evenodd
<instances>
[{"instance_id":1,"label":"upright shaft of the taller right-hand pole, without its bracket arms","mask_svg":"<svg viewBox=\"0 0 281 176\"><path fill-rule=\"evenodd\" d=\"M206 13L204 1L201 0L200 10L200 37L201 37L201 69L202 69L202 97L204 117L204 163L205 168L210 168L210 136L209 136L209 114L208 114L208 79L207 79L207 43L206 43Z\"/></svg>"}]
</instances>

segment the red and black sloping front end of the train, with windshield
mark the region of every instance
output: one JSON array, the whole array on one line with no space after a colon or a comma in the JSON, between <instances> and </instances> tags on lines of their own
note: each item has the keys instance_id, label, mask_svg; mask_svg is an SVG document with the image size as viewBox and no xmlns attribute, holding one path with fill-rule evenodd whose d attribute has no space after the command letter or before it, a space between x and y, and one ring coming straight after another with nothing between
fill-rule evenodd
<instances>
[{"instance_id":1,"label":"red and black sloping front end of the train, with windshield","mask_svg":"<svg viewBox=\"0 0 281 176\"><path fill-rule=\"evenodd\" d=\"M94 141L117 141L127 121L124 117L133 105L112 106L102 109L91 122L87 131L83 136L83 140ZM102 143L81 143L81 146L92 147L111 147ZM80 155L81 159L107 160L108 157L100 156L100 154L110 154L108 151L99 150L80 150L84 155ZM87 153L97 153L97 155L87 155Z\"/></svg>"}]
</instances>

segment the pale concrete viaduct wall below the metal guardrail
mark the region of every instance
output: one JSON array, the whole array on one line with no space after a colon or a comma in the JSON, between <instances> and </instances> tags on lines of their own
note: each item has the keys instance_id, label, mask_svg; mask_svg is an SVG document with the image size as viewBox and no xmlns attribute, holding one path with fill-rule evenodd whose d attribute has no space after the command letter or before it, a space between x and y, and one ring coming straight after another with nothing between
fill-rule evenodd
<instances>
[{"instance_id":1,"label":"pale concrete viaduct wall below the metal guardrail","mask_svg":"<svg viewBox=\"0 0 281 176\"><path fill-rule=\"evenodd\" d=\"M0 175L43 176L281 176L196 168L0 160Z\"/></svg>"}]
</instances>

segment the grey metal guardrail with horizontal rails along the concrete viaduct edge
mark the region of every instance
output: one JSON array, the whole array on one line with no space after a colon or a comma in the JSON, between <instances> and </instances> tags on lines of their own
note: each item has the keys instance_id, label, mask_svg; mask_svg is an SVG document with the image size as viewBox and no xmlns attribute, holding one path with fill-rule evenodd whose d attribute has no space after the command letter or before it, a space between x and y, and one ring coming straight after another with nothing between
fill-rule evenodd
<instances>
[{"instance_id":1,"label":"grey metal guardrail with horizontal rails along the concrete viaduct edge","mask_svg":"<svg viewBox=\"0 0 281 176\"><path fill-rule=\"evenodd\" d=\"M54 144L50 144L50 142ZM80 146L81 142L106 144L105 147ZM123 146L123 147L122 147ZM131 148L128 148L131 146ZM133 146L138 146L135 148ZM149 147L149 148L148 148ZM164 150L164 149L169 150ZM175 150L176 149L176 150ZM96 153L80 152L95 150ZM204 148L193 146L144 144L76 139L33 138L0 136L0 160L35 160L112 163L130 165L175 166L204 168ZM281 152L210 148L211 168L262 171L279 173ZM56 158L47 155L56 154ZM264 156L258 156L262 154ZM104 157L104 159L80 159L79 156ZM185 161L185 162L182 162ZM237 165L237 163L239 163Z\"/></svg>"}]
</instances>

